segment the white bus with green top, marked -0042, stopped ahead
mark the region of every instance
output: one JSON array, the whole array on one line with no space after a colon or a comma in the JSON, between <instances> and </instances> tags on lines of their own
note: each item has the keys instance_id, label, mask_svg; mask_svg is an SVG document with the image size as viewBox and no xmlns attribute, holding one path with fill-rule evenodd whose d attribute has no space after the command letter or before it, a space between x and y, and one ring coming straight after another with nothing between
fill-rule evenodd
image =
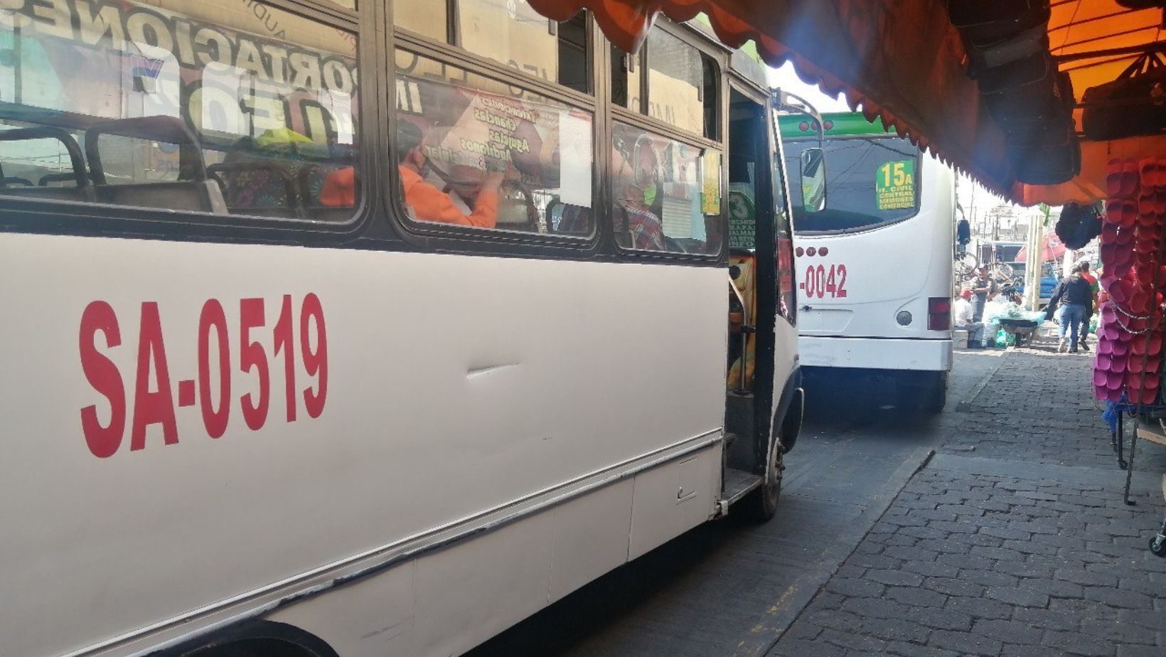
<instances>
[{"instance_id":1,"label":"white bus with green top, marked -0042, stopped ahead","mask_svg":"<svg viewBox=\"0 0 1166 657\"><path fill-rule=\"evenodd\" d=\"M899 405L939 411L951 369L954 174L861 113L824 113L821 121L779 121L793 166L806 376L862 379L876 394L894 391ZM817 148L824 203L799 177L799 162Z\"/></svg>"}]
</instances>

